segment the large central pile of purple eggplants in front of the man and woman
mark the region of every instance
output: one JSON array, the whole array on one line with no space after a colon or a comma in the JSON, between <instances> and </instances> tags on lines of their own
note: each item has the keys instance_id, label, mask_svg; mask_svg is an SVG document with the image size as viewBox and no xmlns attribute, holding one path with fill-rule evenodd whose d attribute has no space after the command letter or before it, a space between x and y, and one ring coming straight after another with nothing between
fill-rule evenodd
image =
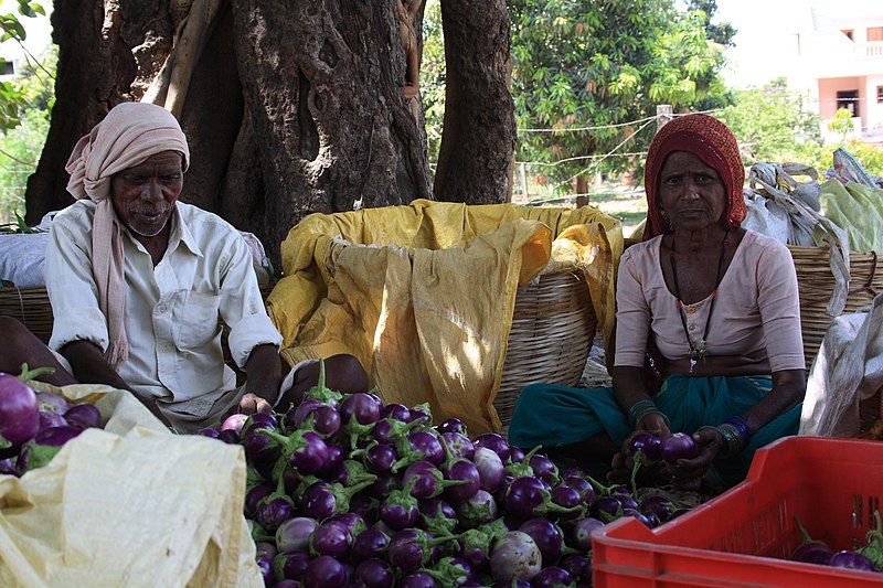
<instances>
[{"instance_id":1,"label":"large central pile of purple eggplants in front of the man and woman","mask_svg":"<svg viewBox=\"0 0 883 588\"><path fill-rule=\"evenodd\" d=\"M287 414L234 415L201 432L245 450L245 514L267 586L588 586L595 528L680 514L500 435L472 440L457 419L434 427L426 406L343 396L323 375Z\"/></svg>"}]
</instances>

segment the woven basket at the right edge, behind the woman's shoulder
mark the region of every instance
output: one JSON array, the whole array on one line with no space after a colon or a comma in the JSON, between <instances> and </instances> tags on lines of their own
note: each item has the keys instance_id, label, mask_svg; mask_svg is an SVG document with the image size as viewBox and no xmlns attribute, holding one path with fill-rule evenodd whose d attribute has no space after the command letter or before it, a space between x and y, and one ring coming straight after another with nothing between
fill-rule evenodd
<instances>
[{"instance_id":1,"label":"woven basket at the right edge, behind the woman's shoulder","mask_svg":"<svg viewBox=\"0 0 883 588\"><path fill-rule=\"evenodd\" d=\"M829 265L829 253L823 247L788 245L797 269L800 296L800 327L804 331L804 354L807 370L819 353L821 340L831 325L832 317L826 312L834 288L834 277ZM850 288L847 312L862 310L883 291L883 267L874 252L850 252Z\"/></svg>"}]
</instances>

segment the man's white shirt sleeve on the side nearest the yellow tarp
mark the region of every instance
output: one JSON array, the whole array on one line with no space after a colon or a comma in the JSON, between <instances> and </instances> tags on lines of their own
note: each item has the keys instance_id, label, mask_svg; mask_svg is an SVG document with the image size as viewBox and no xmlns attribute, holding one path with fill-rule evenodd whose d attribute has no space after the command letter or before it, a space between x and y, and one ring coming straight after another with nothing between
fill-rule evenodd
<instances>
[{"instance_id":1,"label":"man's white shirt sleeve on the side nearest the yellow tarp","mask_svg":"<svg viewBox=\"0 0 883 588\"><path fill-rule=\"evenodd\" d=\"M240 235L235 236L231 256L222 269L220 312L224 324L230 327L230 354L241 368L257 345L278 346L283 342L264 308L251 253Z\"/></svg>"}]
</instances>

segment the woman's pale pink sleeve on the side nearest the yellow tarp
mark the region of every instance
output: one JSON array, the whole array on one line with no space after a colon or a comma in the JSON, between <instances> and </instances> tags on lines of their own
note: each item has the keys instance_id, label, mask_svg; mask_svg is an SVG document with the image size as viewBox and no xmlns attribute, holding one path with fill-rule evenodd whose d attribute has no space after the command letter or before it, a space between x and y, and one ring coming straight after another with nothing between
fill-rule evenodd
<instances>
[{"instance_id":1,"label":"woman's pale pink sleeve on the side nearest the yellow tarp","mask_svg":"<svg viewBox=\"0 0 883 588\"><path fill-rule=\"evenodd\" d=\"M614 365L643 367L650 332L650 306L631 253L619 260L616 281L616 356Z\"/></svg>"}]
</instances>

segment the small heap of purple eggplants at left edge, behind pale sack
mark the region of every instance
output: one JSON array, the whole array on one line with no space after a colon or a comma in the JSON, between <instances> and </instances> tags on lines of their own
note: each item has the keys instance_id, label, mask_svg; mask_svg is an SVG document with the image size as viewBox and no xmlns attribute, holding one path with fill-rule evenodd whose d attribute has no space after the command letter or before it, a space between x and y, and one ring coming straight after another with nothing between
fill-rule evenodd
<instances>
[{"instance_id":1,"label":"small heap of purple eggplants at left edge, behind pale sack","mask_svg":"<svg viewBox=\"0 0 883 588\"><path fill-rule=\"evenodd\" d=\"M21 475L42 468L64 443L102 426L93 405L71 405L58 395L31 389L28 382L51 371L24 364L18 376L0 373L0 473Z\"/></svg>"}]
</instances>

